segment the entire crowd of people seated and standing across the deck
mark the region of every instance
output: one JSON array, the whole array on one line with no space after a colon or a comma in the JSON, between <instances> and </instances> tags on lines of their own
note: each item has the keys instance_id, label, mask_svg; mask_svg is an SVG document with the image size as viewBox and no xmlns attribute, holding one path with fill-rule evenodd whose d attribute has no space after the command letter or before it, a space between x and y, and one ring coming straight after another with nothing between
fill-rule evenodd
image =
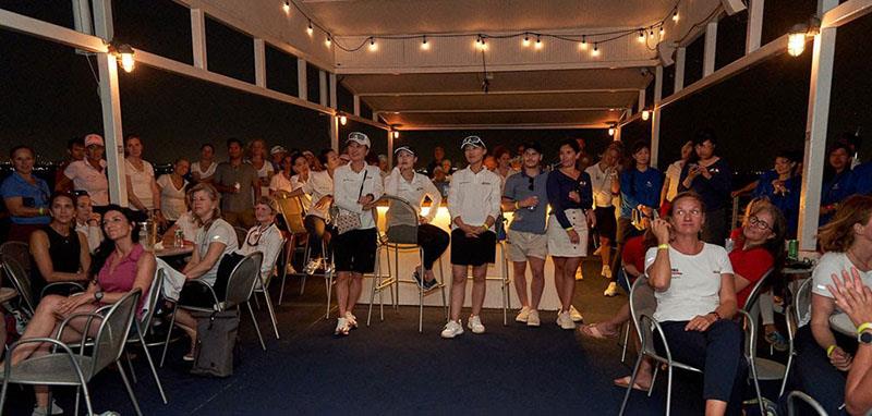
<instances>
[{"instance_id":1,"label":"entire crowd of people seated and standing across the deck","mask_svg":"<svg viewBox=\"0 0 872 416\"><path fill-rule=\"evenodd\" d=\"M59 170L55 189L34 174L32 148L11 150L14 172L0 185L12 222L8 240L28 244L38 301L25 339L49 337L59 319L71 313L111 304L133 289L146 292L159 261L137 241L147 219L167 230L167 242L178 230L193 246L190 259L169 273L169 302L211 305L202 285L184 283L198 280L221 296L229 271L254 252L264 254L262 282L278 267L292 269L290 264L278 265L282 243L291 238L276 221L277 194L299 197L304 206L312 261L303 265L303 272L336 271L335 334L349 335L358 327L354 308L363 277L375 268L379 238L374 208L383 195L391 195L409 201L420 216L417 241L424 255L413 277L422 291L438 286L433 265L450 246L450 314L443 338L457 338L465 329L485 332L481 313L487 266L495 262L501 241L521 302L518 322L542 325L540 306L550 256L560 303L556 325L590 339L617 337L630 320L629 305L607 321L577 323L582 316L573 305L576 280L592 244L592 255L602 260L604 295L615 296L619 285L629 291L627 282L645 277L657 301L653 318L661 322L671 355L704 370L706 414L738 414L747 363L743 335L734 318L749 306L752 287L770 270L778 274L785 242L796 236L799 218L798 156L778 152L772 170L734 191L732 170L718 156L717 137L708 130L683 143L681 158L665 173L651 166L645 142L626 148L613 142L594 161L582 139L566 139L557 155L544 155L534 142L514 152L504 146L491 150L479 136L460 143L462 169L445 159L441 147L422 169L412 146L395 149L390 168L386 157L374 155L365 134L353 132L341 151L289 151L268 148L263 139L245 145L231 138L223 162L215 160L215 147L206 144L197 160L179 158L171 172L155 178L153 164L143 158L144 145L137 135L124 138L124 208L109 201L99 135L70 140L70 160ZM843 403L851 413L872 407L867 377L872 368L872 163L852 163L853 150L839 140L828 154L820 221L823 257L812 278L810 323L797 333L796 384L831 414ZM557 162L548 164L547 158ZM753 200L742 224L730 230L731 198L749 193ZM434 224L436 209L422 209L425 200L435 207L446 200L447 229ZM239 241L234 227L247 230L244 241ZM464 316L469 277L472 307ZM75 284L51 284L57 282ZM777 293L777 284L768 286L773 290L759 301L765 339L784 350L785 337L773 320L774 299L784 293ZM83 294L72 295L76 291ZM828 318L838 311L850 315L859 328L857 339L829 329ZM191 339L183 359L193 360L196 320L179 309L174 321ZM73 325L63 339L81 338L83 330ZM29 345L15 351L13 364L48 348ZM653 363L642 363L631 388L647 390L653 369ZM630 377L615 383L629 387ZM37 388L36 394L36 411L55 413L48 391Z\"/></svg>"}]
</instances>

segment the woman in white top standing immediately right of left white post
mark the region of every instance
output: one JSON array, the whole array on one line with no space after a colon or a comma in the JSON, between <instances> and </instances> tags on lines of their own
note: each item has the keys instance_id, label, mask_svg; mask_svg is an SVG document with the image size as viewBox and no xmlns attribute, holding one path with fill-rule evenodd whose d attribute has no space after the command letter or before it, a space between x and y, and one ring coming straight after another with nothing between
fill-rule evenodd
<instances>
[{"instance_id":1,"label":"woman in white top standing immediately right of left white post","mask_svg":"<svg viewBox=\"0 0 872 416\"><path fill-rule=\"evenodd\" d=\"M124 171L128 176L128 199L131 209L145 220L154 215L160 218L160 189L155 181L155 168L143 160L143 140L135 134L124 137Z\"/></svg>"}]
</instances>

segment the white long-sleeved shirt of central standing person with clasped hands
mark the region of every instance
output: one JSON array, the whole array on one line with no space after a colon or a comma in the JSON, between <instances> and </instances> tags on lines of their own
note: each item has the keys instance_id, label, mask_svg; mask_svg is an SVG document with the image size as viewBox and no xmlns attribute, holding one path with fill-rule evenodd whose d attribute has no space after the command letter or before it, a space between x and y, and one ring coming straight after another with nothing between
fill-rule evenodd
<instances>
[{"instance_id":1,"label":"white long-sleeved shirt of central standing person with clasped hands","mask_svg":"<svg viewBox=\"0 0 872 416\"><path fill-rule=\"evenodd\" d=\"M451 230L456 229L455 219L460 217L464 223L473 227L484 224L487 217L499 216L500 184L498 174L482 168L479 173L469 167L451 175L448 188L448 212L451 215ZM491 225L491 231L494 227Z\"/></svg>"}]
</instances>

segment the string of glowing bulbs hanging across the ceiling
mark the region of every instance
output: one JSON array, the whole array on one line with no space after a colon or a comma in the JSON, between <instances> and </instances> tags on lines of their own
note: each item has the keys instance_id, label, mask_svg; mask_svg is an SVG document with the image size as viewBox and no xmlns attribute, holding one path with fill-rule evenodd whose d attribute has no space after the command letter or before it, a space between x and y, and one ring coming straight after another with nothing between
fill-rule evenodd
<instances>
[{"instance_id":1,"label":"string of glowing bulbs hanging across the ceiling","mask_svg":"<svg viewBox=\"0 0 872 416\"><path fill-rule=\"evenodd\" d=\"M522 39L521 45L523 47L533 47L536 50L541 50L545 47L543 40L553 39L559 41L568 41L578 44L579 50L588 50L590 49L590 53L592 57L600 56L600 46L603 44L607 44L610 41L615 41L628 36L635 36L637 34L638 39L640 42L643 42L647 46L650 40L659 40L663 39L665 35L665 25L671 19L673 22L678 22L678 9L681 0L676 1L676 4L671 8L669 13L657 21L656 23L642 26L637 28L630 29L621 29L621 30L606 30L606 32L589 32L589 33L579 33L579 34L553 34L553 33L544 33L544 32L519 32L519 33L511 33L511 34L501 34L501 35L489 35L489 34L426 34L426 35L373 35L364 37L363 40L354 46L347 46L342 45L341 42L336 39L336 37L325 28L323 25L318 24L315 20L312 19L308 14L306 14L296 2L292 0L284 0L282 3L282 10L286 14L290 15L292 9L296 10L300 15L302 15L306 21L307 25L305 27L306 34L310 37L315 36L315 29L320 30L325 38L324 45L327 48L338 48L346 52L356 52L364 47L366 47L370 51L378 50L378 41L379 40L409 40L409 39L421 39L421 50L429 50L431 49L431 39L434 38L474 38L475 39L475 48L481 51L486 51L489 46L487 44L488 39L511 39L518 38ZM655 35L656 34L656 35ZM655 36L657 36L655 38ZM590 40L590 41L589 41ZM593 44L593 47L590 47L590 44Z\"/></svg>"}]
</instances>

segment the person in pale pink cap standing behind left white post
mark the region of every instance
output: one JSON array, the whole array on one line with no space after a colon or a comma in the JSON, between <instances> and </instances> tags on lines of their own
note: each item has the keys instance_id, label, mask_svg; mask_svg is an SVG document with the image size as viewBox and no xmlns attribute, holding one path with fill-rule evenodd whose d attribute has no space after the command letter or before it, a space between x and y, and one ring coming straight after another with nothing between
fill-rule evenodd
<instances>
[{"instance_id":1,"label":"person in pale pink cap standing behind left white post","mask_svg":"<svg viewBox=\"0 0 872 416\"><path fill-rule=\"evenodd\" d=\"M85 159L70 162L55 188L69 189L72 183L75 191L85 191L90 195L95 207L109 205L109 179L106 176L106 160L102 160L105 150L99 134L85 136Z\"/></svg>"}]
</instances>

